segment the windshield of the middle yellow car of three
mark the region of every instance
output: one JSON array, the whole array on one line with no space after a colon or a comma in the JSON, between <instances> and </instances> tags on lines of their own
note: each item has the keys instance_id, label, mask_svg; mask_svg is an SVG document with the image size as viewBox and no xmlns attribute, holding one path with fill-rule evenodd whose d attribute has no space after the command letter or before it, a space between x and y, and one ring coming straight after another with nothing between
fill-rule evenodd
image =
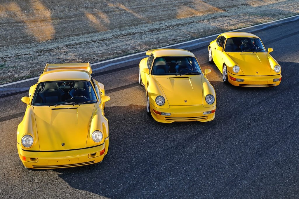
<instances>
[{"instance_id":1,"label":"windshield of the middle yellow car of three","mask_svg":"<svg viewBox=\"0 0 299 199\"><path fill-rule=\"evenodd\" d=\"M202 71L194 57L158 57L152 66L152 75L201 74Z\"/></svg>"}]
</instances>

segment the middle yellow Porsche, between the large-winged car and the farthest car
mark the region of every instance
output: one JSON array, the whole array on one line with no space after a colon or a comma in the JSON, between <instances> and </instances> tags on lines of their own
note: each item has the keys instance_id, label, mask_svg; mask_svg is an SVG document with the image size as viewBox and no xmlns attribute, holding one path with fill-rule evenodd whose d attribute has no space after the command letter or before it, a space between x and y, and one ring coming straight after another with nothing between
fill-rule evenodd
<instances>
[{"instance_id":1,"label":"middle yellow Porsche, between the large-winged car and the farthest car","mask_svg":"<svg viewBox=\"0 0 299 199\"><path fill-rule=\"evenodd\" d=\"M147 113L162 123L211 121L216 94L193 53L152 49L139 63L139 84L147 94Z\"/></svg>"}]
</instances>

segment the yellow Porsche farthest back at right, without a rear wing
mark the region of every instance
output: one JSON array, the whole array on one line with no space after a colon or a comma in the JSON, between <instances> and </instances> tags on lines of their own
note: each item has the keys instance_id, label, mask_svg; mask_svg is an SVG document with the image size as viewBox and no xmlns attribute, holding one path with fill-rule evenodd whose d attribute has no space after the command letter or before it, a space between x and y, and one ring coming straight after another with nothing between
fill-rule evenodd
<instances>
[{"instance_id":1,"label":"yellow Porsche farthest back at right, without a rear wing","mask_svg":"<svg viewBox=\"0 0 299 199\"><path fill-rule=\"evenodd\" d=\"M223 82L235 86L277 86L281 67L260 38L251 33L223 33L210 42L209 62L222 72Z\"/></svg>"}]
</instances>

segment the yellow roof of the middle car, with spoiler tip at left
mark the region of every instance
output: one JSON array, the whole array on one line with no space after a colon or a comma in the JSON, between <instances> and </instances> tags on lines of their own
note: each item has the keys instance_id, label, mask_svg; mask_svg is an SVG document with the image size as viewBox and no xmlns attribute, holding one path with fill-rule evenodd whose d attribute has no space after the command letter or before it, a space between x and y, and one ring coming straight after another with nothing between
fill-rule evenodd
<instances>
[{"instance_id":1,"label":"yellow roof of the middle car, with spoiler tip at left","mask_svg":"<svg viewBox=\"0 0 299 199\"><path fill-rule=\"evenodd\" d=\"M191 56L195 57L193 53L188 50L183 49L171 49L171 48L163 48L163 49L152 49L148 50L146 54L152 53L154 57L167 57L167 56Z\"/></svg>"}]
</instances>

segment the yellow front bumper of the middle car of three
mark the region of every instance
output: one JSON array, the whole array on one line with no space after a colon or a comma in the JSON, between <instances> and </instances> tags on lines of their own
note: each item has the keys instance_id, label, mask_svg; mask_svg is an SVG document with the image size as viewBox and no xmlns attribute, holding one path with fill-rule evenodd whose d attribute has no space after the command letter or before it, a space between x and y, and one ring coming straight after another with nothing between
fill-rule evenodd
<instances>
[{"instance_id":1,"label":"yellow front bumper of the middle car of three","mask_svg":"<svg viewBox=\"0 0 299 199\"><path fill-rule=\"evenodd\" d=\"M205 108L203 105L190 105L190 106L170 106L167 109L157 108L150 104L151 115L157 121L161 123L173 123L173 122L208 122L214 120L215 106ZM211 111L210 114L204 114L204 112ZM157 114L156 112L170 113L170 116Z\"/></svg>"}]
</instances>

